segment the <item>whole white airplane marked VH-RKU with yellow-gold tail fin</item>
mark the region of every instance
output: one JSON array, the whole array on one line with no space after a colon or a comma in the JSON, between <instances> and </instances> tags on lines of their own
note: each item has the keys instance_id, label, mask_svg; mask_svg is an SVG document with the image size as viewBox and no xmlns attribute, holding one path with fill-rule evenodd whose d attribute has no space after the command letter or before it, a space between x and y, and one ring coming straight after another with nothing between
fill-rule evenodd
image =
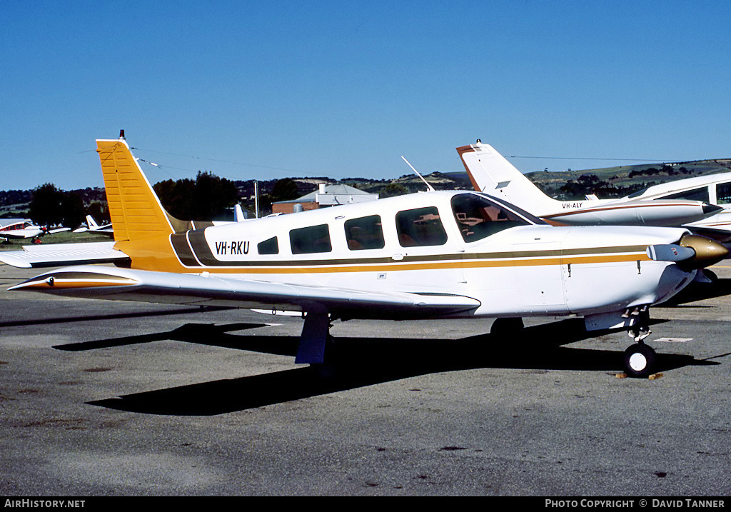
<instances>
[{"instance_id":1,"label":"whole white airplane marked VH-RKU with yellow-gold tail fin","mask_svg":"<svg viewBox=\"0 0 731 512\"><path fill-rule=\"evenodd\" d=\"M646 375L648 307L727 255L681 228L553 227L465 191L196 229L167 214L123 138L97 140L97 151L118 267L60 268L11 290L300 312L295 363L326 362L337 319L488 317L498 331L579 315L588 330L626 328L626 371Z\"/></svg>"}]
</instances>

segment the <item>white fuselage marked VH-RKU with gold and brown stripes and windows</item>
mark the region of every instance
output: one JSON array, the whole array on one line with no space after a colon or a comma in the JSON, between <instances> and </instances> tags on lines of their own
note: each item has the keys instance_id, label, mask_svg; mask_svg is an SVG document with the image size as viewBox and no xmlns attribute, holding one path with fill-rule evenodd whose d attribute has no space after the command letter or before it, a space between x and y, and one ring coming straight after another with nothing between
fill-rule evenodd
<instances>
[{"instance_id":1,"label":"white fuselage marked VH-RKU with gold and brown stripes and windows","mask_svg":"<svg viewBox=\"0 0 731 512\"><path fill-rule=\"evenodd\" d=\"M694 271L651 260L647 248L684 233L553 227L485 195L428 192L176 233L165 260L119 248L142 270L480 301L464 316L582 315L680 290Z\"/></svg>"}]
</instances>

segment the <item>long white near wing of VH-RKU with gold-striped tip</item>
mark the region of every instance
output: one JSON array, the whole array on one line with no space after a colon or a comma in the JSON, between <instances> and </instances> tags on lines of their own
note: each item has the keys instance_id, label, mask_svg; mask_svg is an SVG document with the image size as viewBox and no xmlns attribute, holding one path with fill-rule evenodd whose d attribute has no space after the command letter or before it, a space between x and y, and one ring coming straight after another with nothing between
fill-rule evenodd
<instances>
[{"instance_id":1,"label":"long white near wing of VH-RKU with gold-striped tip","mask_svg":"<svg viewBox=\"0 0 731 512\"><path fill-rule=\"evenodd\" d=\"M221 274L173 274L100 266L74 266L41 274L10 290L196 306L330 313L341 318L439 317L467 312L480 301L442 293L364 292L292 285Z\"/></svg>"}]
</instances>

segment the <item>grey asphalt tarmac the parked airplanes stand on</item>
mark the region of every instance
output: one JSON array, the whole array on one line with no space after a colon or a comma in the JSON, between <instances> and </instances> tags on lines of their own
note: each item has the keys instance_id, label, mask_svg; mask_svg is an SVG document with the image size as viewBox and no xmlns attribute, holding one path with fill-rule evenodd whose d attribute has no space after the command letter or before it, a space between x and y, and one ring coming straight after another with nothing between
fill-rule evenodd
<instances>
[{"instance_id":1,"label":"grey asphalt tarmac the parked airplanes stand on","mask_svg":"<svg viewBox=\"0 0 731 512\"><path fill-rule=\"evenodd\" d=\"M731 263L631 340L576 319L336 322L332 373L302 321L7 292L1 496L731 494ZM548 322L548 323L547 323Z\"/></svg>"}]
</instances>

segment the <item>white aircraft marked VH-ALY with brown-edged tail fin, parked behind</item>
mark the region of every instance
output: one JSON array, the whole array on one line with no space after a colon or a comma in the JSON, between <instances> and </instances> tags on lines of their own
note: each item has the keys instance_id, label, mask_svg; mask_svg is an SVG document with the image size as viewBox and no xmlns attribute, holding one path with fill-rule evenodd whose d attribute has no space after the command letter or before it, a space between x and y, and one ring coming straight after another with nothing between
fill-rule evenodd
<instances>
[{"instance_id":1,"label":"white aircraft marked VH-ALY with brown-edged tail fin, parked behind","mask_svg":"<svg viewBox=\"0 0 731 512\"><path fill-rule=\"evenodd\" d=\"M559 201L545 195L495 148L480 140L457 152L476 190L503 197L553 225L681 226L703 222L723 210L708 204L708 196L703 200L669 194Z\"/></svg>"}]
</instances>

